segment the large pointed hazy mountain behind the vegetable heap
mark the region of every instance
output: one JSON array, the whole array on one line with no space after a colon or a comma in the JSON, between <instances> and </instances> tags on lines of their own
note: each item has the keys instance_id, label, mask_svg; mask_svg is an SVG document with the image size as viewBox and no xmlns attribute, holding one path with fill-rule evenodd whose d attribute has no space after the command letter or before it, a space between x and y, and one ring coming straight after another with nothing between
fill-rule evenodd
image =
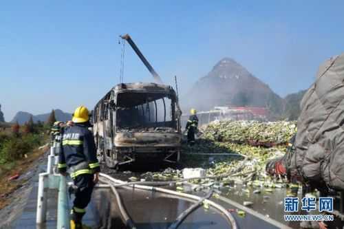
<instances>
[{"instance_id":1,"label":"large pointed hazy mountain behind the vegetable heap","mask_svg":"<svg viewBox=\"0 0 344 229\"><path fill-rule=\"evenodd\" d=\"M280 116L284 100L233 58L223 58L182 97L184 111L191 107L207 111L215 106L266 107Z\"/></svg>"}]
</instances>

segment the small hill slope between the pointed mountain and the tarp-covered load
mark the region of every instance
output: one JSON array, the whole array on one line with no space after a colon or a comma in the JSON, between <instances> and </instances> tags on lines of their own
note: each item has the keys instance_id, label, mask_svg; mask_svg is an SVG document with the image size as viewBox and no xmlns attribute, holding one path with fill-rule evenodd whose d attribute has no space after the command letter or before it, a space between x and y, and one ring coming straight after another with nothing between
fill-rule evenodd
<instances>
[{"instance_id":1,"label":"small hill slope between the pointed mountain and the tarp-covered load","mask_svg":"<svg viewBox=\"0 0 344 229\"><path fill-rule=\"evenodd\" d=\"M284 98L286 101L286 107L283 111L283 116L288 120L297 120L301 113L300 102L307 90L302 90L297 93L289 94Z\"/></svg>"}]
</instances>

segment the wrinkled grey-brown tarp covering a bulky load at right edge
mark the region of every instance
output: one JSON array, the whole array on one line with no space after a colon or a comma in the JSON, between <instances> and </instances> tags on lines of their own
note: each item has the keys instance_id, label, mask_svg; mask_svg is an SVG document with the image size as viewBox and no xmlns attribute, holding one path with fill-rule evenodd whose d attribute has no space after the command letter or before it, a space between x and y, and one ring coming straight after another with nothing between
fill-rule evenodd
<instances>
[{"instance_id":1,"label":"wrinkled grey-brown tarp covering a bulky load at right edge","mask_svg":"<svg viewBox=\"0 0 344 229\"><path fill-rule=\"evenodd\" d=\"M344 190L344 53L325 61L301 101L292 175ZM289 164L289 163L288 163Z\"/></svg>"}]
</instances>

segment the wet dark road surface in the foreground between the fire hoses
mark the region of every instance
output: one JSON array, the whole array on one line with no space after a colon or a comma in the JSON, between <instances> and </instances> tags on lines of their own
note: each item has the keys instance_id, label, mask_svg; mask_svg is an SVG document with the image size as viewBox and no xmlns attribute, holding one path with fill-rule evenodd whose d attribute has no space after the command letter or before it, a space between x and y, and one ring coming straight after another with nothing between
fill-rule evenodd
<instances>
[{"instance_id":1,"label":"wet dark road surface in the foreground between the fire hoses","mask_svg":"<svg viewBox=\"0 0 344 229\"><path fill-rule=\"evenodd\" d=\"M138 168L138 167L136 167ZM163 168L160 168L163 169ZM157 171L152 169L151 171ZM140 179L140 176L144 171L136 169L134 172L122 171L115 173L114 171L108 170L107 168L103 169L103 172L111 175L116 179L122 179L129 181L129 177L135 176ZM184 190L187 189L187 186L184 186ZM169 188L175 190L175 186L164 186L163 188ZM261 214L252 215L249 212L246 212L244 217L240 217L237 214L237 206L224 203L219 201L219 199L212 198L213 201L224 206L227 210L235 210L233 216L239 225L239 228L281 228L283 221L283 206L277 204L285 196L286 190L279 189L274 193L268 193L268 198L265 197L265 194L251 194L247 196L246 192L241 190L246 187L235 186L232 188L223 188L222 194L224 197L233 199L238 204L242 204L243 201L255 202L252 205L253 210L259 211ZM140 190L138 188L117 188L120 196L122 198L127 212L132 217L133 221L136 223L138 228L168 228L171 223L180 215L184 210L186 210L193 202L187 199L178 199L174 195L166 195L162 193L152 193L147 190ZM190 189L190 188L189 188ZM191 190L191 189L190 189ZM203 196L205 193L189 193ZM107 201L109 200L110 201ZM263 203L264 202L264 203ZM114 195L109 192L107 188L98 188L94 193L94 206L99 213L100 226L102 229L107 228L125 228L125 225L120 219L120 214L116 204L116 198ZM245 208L245 207L244 207ZM252 211L254 212L254 211ZM266 217L268 215L268 217ZM271 217L271 218L269 218ZM277 219L281 222L280 224L275 225L270 223L272 219ZM283 227L283 226L282 226ZM288 226L287 226L288 227ZM180 225L180 228L231 228L230 223L227 221L226 217L222 215L221 212L215 208L205 209L200 207L195 212L192 212L191 215L186 217L185 221ZM298 227L297 227L298 228Z\"/></svg>"}]
</instances>

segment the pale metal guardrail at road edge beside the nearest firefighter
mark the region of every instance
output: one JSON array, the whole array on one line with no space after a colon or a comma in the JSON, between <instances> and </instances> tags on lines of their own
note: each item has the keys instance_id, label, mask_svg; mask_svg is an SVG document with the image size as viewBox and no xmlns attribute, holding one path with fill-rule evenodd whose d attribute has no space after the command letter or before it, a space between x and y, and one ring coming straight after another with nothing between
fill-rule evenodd
<instances>
[{"instance_id":1,"label":"pale metal guardrail at road edge beside the nearest firefighter","mask_svg":"<svg viewBox=\"0 0 344 229\"><path fill-rule=\"evenodd\" d=\"M70 210L66 177L55 173L58 162L57 149L56 144L50 147L50 155L47 157L47 171L39 174L36 224L43 224L47 220L47 192L55 189L58 190L57 229L69 229Z\"/></svg>"}]
</instances>

